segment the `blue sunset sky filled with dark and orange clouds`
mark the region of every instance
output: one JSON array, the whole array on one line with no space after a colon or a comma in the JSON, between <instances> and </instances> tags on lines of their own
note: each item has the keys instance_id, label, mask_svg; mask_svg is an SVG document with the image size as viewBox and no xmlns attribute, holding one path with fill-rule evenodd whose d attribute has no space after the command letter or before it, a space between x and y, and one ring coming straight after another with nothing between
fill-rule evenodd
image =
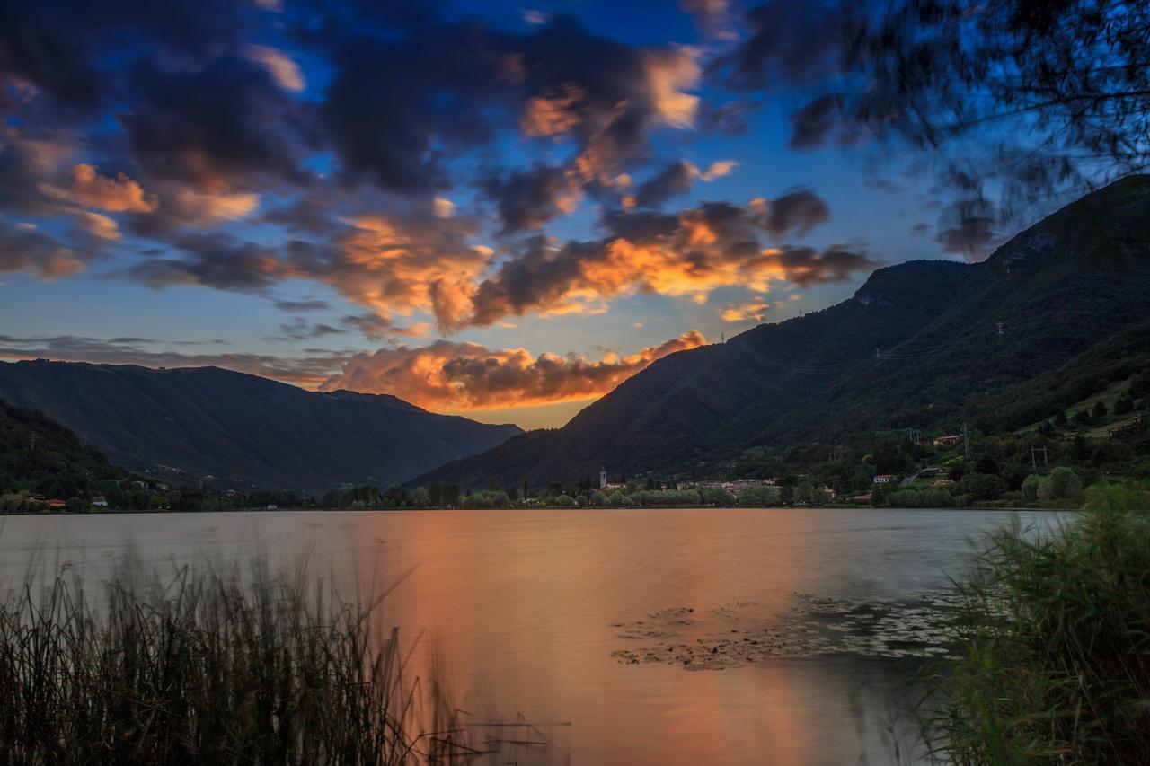
<instances>
[{"instance_id":1,"label":"blue sunset sky filled with dark and orange clouds","mask_svg":"<svg viewBox=\"0 0 1150 766\"><path fill-rule=\"evenodd\" d=\"M561 426L963 256L928 179L834 135L835 40L805 2L7 2L0 359Z\"/></svg>"}]
</instances>

